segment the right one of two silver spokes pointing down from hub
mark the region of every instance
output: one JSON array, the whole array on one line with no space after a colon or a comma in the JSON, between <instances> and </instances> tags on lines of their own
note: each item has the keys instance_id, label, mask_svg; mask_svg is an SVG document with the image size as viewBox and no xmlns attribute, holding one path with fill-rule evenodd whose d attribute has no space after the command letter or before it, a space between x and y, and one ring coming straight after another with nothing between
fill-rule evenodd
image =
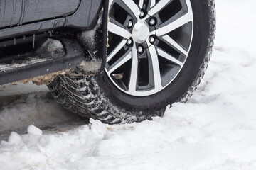
<instances>
[{"instance_id":1,"label":"right one of two silver spokes pointing down from hub","mask_svg":"<svg viewBox=\"0 0 256 170\"><path fill-rule=\"evenodd\" d=\"M161 74L159 67L159 59L154 45L149 47L149 52L152 60L153 76L154 76L154 87L155 89L161 89Z\"/></svg>"}]
</instances>

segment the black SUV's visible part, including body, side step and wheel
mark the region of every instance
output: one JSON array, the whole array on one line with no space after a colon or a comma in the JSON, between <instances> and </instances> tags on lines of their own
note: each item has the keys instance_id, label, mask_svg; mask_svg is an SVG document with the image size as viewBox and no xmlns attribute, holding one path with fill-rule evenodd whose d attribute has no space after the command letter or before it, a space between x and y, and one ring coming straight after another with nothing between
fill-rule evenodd
<instances>
[{"instance_id":1,"label":"black SUV's visible part, including body, side step and wheel","mask_svg":"<svg viewBox=\"0 0 256 170\"><path fill-rule=\"evenodd\" d=\"M0 0L0 84L47 84L104 123L164 115L200 83L214 0Z\"/></svg>"}]
</instances>

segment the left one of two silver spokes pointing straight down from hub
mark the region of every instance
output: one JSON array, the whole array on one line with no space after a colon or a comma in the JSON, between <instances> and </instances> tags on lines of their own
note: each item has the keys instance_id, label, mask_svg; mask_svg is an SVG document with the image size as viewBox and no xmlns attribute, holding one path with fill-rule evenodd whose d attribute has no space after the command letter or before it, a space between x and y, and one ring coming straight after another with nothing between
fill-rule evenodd
<instances>
[{"instance_id":1,"label":"left one of two silver spokes pointing straight down from hub","mask_svg":"<svg viewBox=\"0 0 256 170\"><path fill-rule=\"evenodd\" d=\"M138 54L136 47L132 48L132 70L129 79L129 92L136 91L138 77Z\"/></svg>"}]
</instances>

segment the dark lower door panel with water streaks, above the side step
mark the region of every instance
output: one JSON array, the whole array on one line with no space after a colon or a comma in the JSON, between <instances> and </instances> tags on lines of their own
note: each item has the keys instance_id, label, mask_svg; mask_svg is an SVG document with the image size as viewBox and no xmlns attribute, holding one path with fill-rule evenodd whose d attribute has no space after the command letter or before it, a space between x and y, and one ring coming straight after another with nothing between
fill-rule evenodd
<instances>
[{"instance_id":1,"label":"dark lower door panel with water streaks, above the side step","mask_svg":"<svg viewBox=\"0 0 256 170\"><path fill-rule=\"evenodd\" d=\"M80 0L0 0L0 28L68 16Z\"/></svg>"}]
</instances>

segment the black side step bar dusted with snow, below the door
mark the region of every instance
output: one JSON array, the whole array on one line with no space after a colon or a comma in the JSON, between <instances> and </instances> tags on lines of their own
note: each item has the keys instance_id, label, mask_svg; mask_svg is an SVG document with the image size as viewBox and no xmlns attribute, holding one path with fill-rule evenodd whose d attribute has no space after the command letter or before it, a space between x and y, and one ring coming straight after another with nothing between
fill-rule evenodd
<instances>
[{"instance_id":1,"label":"black side step bar dusted with snow, below the door","mask_svg":"<svg viewBox=\"0 0 256 170\"><path fill-rule=\"evenodd\" d=\"M85 60L85 52L76 39L58 38L58 40L62 42L65 49L64 57L30 56L31 63L24 61L16 65L0 64L0 85L71 69Z\"/></svg>"}]
</instances>

